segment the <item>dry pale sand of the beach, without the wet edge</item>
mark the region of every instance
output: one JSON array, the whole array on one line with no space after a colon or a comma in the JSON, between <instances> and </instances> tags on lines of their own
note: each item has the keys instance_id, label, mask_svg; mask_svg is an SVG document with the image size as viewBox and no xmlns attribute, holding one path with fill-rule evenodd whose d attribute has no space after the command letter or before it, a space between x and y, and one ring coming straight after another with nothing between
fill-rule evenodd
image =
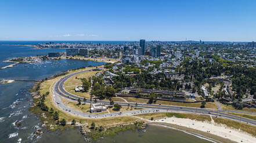
<instances>
[{"instance_id":1,"label":"dry pale sand of the beach, without the wet edge","mask_svg":"<svg viewBox=\"0 0 256 143\"><path fill-rule=\"evenodd\" d=\"M158 119L158 121L156 122L170 123L172 125L188 127L190 129L195 129L203 131L205 133L214 134L215 136L226 138L235 142L256 142L256 137L253 137L250 134L245 133L243 131L232 129L230 127L227 127L226 125L219 125L217 123L214 123L214 120L212 120L211 122L200 122L194 121L192 119L171 117L165 119Z\"/></svg>"}]
</instances>

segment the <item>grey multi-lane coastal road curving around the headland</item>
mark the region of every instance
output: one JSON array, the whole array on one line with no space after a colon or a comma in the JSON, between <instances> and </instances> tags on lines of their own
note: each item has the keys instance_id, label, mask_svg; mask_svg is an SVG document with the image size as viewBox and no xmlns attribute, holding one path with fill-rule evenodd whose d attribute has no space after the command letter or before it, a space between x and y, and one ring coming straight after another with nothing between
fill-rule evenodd
<instances>
[{"instance_id":1,"label":"grey multi-lane coastal road curving around the headland","mask_svg":"<svg viewBox=\"0 0 256 143\"><path fill-rule=\"evenodd\" d=\"M100 67L98 69L102 69L102 67ZM62 102L60 97L64 97L66 99L73 100L73 101L77 101L78 98L80 98L82 100L83 98L67 92L64 89L64 82L68 78L70 78L70 77L72 77L76 74L88 72L88 71L91 71L91 70L93 70L93 69L82 70L80 72L67 74L66 76L60 78L60 80L58 80L53 85L53 88L52 88L53 100L55 101L55 104L59 108L61 108L65 112L69 112L70 114L77 115L77 116L82 116L82 117L85 117L85 118L105 118L105 117L121 116L121 115L131 116L131 115L145 114L145 113L150 113L150 112L174 112L174 111L176 111L176 112L193 112L193 113L197 113L197 114L221 116L223 118L228 118L228 119L232 119L232 120L240 121L240 122L244 122L244 123L250 123L251 125L256 126L256 121L254 121L252 119L247 119L247 118L243 118L241 116L236 116L236 115L231 115L231 114L226 113L226 112L240 112L240 113L246 113L246 114L255 114L255 113L252 113L252 112L243 112L243 111L211 110L211 109L205 109L205 108L193 108L193 107L180 107L180 106L168 106L168 105L158 105L158 104L137 103L138 108L146 108L146 109L137 110L137 111L116 112L116 113L88 114L86 112L74 110L73 108L68 107L66 104L64 104ZM109 101L99 100L98 102L109 105ZM86 103L89 104L89 100L87 100ZM126 102L120 102L120 101L116 101L115 103L121 104L122 106L127 106L127 104L128 104ZM135 107L136 103L129 103L129 104L131 106Z\"/></svg>"}]
</instances>

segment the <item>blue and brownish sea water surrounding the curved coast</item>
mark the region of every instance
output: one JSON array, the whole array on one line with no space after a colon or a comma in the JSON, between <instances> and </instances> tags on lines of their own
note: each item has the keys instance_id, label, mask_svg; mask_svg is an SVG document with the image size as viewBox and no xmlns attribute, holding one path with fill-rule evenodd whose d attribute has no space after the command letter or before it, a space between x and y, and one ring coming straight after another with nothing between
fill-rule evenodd
<instances>
[{"instance_id":1,"label":"blue and brownish sea water surrounding the curved coast","mask_svg":"<svg viewBox=\"0 0 256 143\"><path fill-rule=\"evenodd\" d=\"M62 52L63 49L34 49L28 46L10 46L7 44L37 44L40 42L0 42L0 61L13 57L46 55L48 52ZM103 43L103 42L102 42ZM113 42L118 43L118 42ZM0 62L0 67L9 63ZM78 61L60 59L42 61L36 65L18 64L12 68L0 70L0 78L41 80L64 70L82 66L103 65L103 62ZM27 65L27 66L25 66ZM41 128L41 121L28 111L32 105L31 94L28 92L34 82L12 82L0 84L0 142L85 142L78 129L64 131L48 131L32 139L31 134ZM20 127L14 123L19 121ZM122 131L116 136L104 137L90 142L208 142L182 131L164 127L149 126L145 131Z\"/></svg>"}]
</instances>

